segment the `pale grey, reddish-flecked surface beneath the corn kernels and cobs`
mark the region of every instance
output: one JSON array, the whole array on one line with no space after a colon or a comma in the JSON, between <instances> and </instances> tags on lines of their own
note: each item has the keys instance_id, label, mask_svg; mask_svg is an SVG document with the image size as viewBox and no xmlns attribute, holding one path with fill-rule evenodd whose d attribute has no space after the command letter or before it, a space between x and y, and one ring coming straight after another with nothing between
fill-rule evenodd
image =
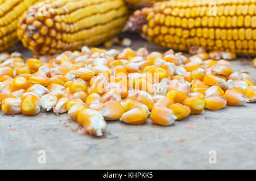
<instances>
[{"instance_id":1,"label":"pale grey, reddish-flecked surface beneath the corn kernels and cobs","mask_svg":"<svg viewBox=\"0 0 256 181\"><path fill-rule=\"evenodd\" d=\"M126 36L126 35L123 35ZM133 48L164 49L133 37ZM121 47L114 47L121 48ZM16 45L31 56L31 52ZM256 79L251 60L232 61ZM204 111L170 127L108 121L103 138L77 134L77 123L59 117L0 115L0 169L256 169L256 104ZM39 164L39 150L46 163ZM216 151L216 164L208 154Z\"/></svg>"}]
</instances>

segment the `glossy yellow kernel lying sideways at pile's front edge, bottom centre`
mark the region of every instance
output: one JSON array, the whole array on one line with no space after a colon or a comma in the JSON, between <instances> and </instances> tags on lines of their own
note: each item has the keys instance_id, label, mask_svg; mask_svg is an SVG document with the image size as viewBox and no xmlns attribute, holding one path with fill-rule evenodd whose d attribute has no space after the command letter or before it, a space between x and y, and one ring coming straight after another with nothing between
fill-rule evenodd
<instances>
[{"instance_id":1,"label":"glossy yellow kernel lying sideways at pile's front edge, bottom centre","mask_svg":"<svg viewBox=\"0 0 256 181\"><path fill-rule=\"evenodd\" d=\"M125 113L123 113L121 117L121 121L127 123L127 124L144 124L147 121L147 110L144 108L134 108L132 110L129 110Z\"/></svg>"}]
</instances>

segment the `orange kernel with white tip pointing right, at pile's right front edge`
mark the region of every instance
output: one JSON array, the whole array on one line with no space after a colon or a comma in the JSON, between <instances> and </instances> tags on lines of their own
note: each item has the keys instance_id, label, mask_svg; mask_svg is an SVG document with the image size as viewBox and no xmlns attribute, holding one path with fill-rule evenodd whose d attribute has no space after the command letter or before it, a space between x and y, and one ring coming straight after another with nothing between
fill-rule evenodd
<instances>
[{"instance_id":1,"label":"orange kernel with white tip pointing right, at pile's right front edge","mask_svg":"<svg viewBox=\"0 0 256 181\"><path fill-rule=\"evenodd\" d=\"M245 95L233 90L226 90L224 98L226 99L226 104L229 106L242 106L249 102L249 99Z\"/></svg>"}]
</instances>

